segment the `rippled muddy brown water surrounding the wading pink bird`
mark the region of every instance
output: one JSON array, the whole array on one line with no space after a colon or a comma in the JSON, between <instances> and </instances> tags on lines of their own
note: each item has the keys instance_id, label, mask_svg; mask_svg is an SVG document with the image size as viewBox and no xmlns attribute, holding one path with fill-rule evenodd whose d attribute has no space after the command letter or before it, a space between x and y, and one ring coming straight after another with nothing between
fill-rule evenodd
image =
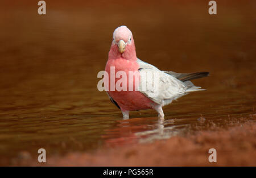
<instances>
[{"instance_id":1,"label":"rippled muddy brown water surrounding the wading pink bird","mask_svg":"<svg viewBox=\"0 0 256 178\"><path fill-rule=\"evenodd\" d=\"M80 5L81 6L77 6ZM39 148L48 155L152 142L251 120L256 106L255 3L138 3L49 6L5 4L0 14L0 155L11 160ZM130 6L129 6L130 7ZM1 7L3 8L3 7ZM131 13L133 11L133 13ZM189 15L188 15L189 14ZM139 17L139 18L138 18ZM114 28L126 24L137 55L165 71L209 71L207 89L155 111L121 112L97 90ZM36 157L35 157L36 158Z\"/></svg>"}]
</instances>

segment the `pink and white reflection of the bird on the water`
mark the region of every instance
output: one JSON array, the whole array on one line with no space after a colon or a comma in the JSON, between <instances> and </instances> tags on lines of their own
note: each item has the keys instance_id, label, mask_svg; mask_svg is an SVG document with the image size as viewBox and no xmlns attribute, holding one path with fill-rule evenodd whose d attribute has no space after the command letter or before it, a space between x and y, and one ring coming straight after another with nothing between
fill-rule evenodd
<instances>
[{"instance_id":1,"label":"pink and white reflection of the bird on the water","mask_svg":"<svg viewBox=\"0 0 256 178\"><path fill-rule=\"evenodd\" d=\"M130 143L151 142L155 139L166 139L176 134L174 121L156 117L118 120L115 129L105 130L105 143L108 146Z\"/></svg>"}]
</instances>

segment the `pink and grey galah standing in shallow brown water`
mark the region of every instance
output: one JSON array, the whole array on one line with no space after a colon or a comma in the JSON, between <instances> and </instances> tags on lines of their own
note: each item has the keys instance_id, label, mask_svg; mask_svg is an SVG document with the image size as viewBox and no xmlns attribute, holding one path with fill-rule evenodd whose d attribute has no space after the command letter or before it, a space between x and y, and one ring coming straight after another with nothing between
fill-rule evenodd
<instances>
[{"instance_id":1,"label":"pink and grey galah standing in shallow brown water","mask_svg":"<svg viewBox=\"0 0 256 178\"><path fill-rule=\"evenodd\" d=\"M114 68L114 72L112 69ZM122 83L123 90L110 89L111 75L116 79L117 73L122 73L122 77L129 78L129 72L137 73L132 76L132 90L129 88L129 80ZM158 80L155 84L158 86L158 92L152 89L142 89L143 84L152 84L151 77L143 75L144 73L156 73ZM109 77L110 76L110 77ZM105 66L104 87L110 101L116 105L122 112L123 119L129 119L130 111L154 109L158 113L158 118L164 120L162 107L171 104L173 100L184 96L185 94L201 91L201 87L195 86L191 80L209 76L209 72L195 73L176 73L172 71L160 71L154 65L148 64L138 59L135 50L133 34L126 26L120 26L113 32L113 40L110 47L108 61ZM121 77L121 75L119 75ZM113 78L112 78L113 79ZM114 81L117 86L118 81ZM136 86L139 84L139 86ZM147 85L146 85L147 86Z\"/></svg>"}]
</instances>

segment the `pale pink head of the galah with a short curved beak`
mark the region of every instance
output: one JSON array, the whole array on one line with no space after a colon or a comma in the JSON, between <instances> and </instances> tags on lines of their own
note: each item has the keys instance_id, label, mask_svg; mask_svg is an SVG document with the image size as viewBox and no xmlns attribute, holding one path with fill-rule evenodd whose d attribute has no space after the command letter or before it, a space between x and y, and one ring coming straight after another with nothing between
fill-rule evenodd
<instances>
[{"instance_id":1,"label":"pale pink head of the galah with a short curved beak","mask_svg":"<svg viewBox=\"0 0 256 178\"><path fill-rule=\"evenodd\" d=\"M126 26L120 26L113 33L110 55L114 58L122 57L127 60L137 59L133 34Z\"/></svg>"}]
</instances>

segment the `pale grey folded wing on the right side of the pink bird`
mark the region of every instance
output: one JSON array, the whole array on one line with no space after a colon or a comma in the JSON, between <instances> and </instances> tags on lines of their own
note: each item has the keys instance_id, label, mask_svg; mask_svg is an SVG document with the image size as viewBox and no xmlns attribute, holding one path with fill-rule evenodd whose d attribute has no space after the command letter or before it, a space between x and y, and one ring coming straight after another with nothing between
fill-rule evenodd
<instances>
[{"instance_id":1,"label":"pale grey folded wing on the right side of the pink bird","mask_svg":"<svg viewBox=\"0 0 256 178\"><path fill-rule=\"evenodd\" d=\"M142 60L138 59L138 64L141 76L139 91L152 101L164 106L186 94L188 87L185 82Z\"/></svg>"}]
</instances>

